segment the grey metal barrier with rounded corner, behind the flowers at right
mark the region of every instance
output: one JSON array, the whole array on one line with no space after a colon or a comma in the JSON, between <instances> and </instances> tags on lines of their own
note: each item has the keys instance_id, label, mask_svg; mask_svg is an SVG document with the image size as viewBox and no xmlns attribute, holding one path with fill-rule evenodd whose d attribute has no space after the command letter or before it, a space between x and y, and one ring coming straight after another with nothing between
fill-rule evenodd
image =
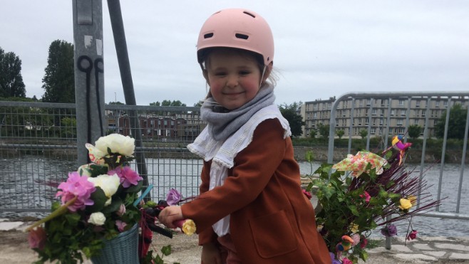
<instances>
[{"instance_id":1,"label":"grey metal barrier with rounded corner, behind the flowers at right","mask_svg":"<svg viewBox=\"0 0 469 264\"><path fill-rule=\"evenodd\" d=\"M444 199L446 197L443 197L442 195L442 190L443 190L443 182L448 181L449 179L453 180L457 179L456 181L456 186L457 190L451 190L453 194L455 194L454 198L452 201L454 203L446 204L445 210L443 211L440 206L436 207L434 211L428 211L426 213L422 213L419 216L428 216L428 217L437 217L437 218L452 218L452 219L459 219L459 220L469 220L469 214L468 214L468 205L465 205L465 208L461 210L461 201L469 201L469 189L468 189L468 184L464 180L468 181L467 179L467 173L465 174L465 164L468 161L468 158L466 157L466 150L467 150L467 145L468 145L468 130L469 130L469 93L451 93L451 92L445 92L445 93L426 93L426 92L399 92L399 93L346 93L342 95L341 97L337 98L334 101L334 104L331 107L331 117L329 120L329 147L328 147L328 163L333 162L334 158L334 137L335 137L335 130L336 130L336 112L339 104L344 101L350 101L351 100L351 105L352 105L352 110L351 110L351 120L354 120L354 110L353 107L355 105L355 100L361 100L361 99L366 99L369 100L369 105L368 105L368 113L373 112L373 107L376 107L375 105L375 100L388 100L388 102L391 102L392 100L403 100L403 102L406 102L406 105L402 105L403 109L407 109L407 115L405 117L405 133L403 134L404 141L407 142L408 140L408 127L411 125L410 119L411 119L411 100L415 98L421 98L421 100L426 101L426 107L425 107L425 125L423 127L423 136L421 137L422 139L422 146L421 146L421 161L420 164L417 165L416 171L419 173L419 179L420 181L423 180L425 176L425 171L428 167L435 166L435 162L429 162L426 161L426 152L427 152L427 145L428 145L428 139L431 138L431 135L428 134L428 127L430 125L430 111L431 111L431 99L432 98L445 98L447 100L447 103L445 103L446 106L446 115L445 115L445 129L444 129L444 136L443 136L443 142L441 145L441 152L440 152L440 157L436 157L436 160L439 160L439 178L438 178L438 185L436 189L436 193L432 193L431 195L433 196L434 199ZM458 170L457 171L448 171L445 170L445 154L447 152L447 144L448 144L448 122L450 119L450 110L451 110L451 102L453 101L453 98L457 98L458 102L463 102L463 106L467 107L467 115L466 115L466 120L465 120L465 133L463 137L463 144L460 145L460 164L458 165ZM388 113L391 112L391 103L388 103ZM366 126L367 130L367 136L366 136L366 150L370 149L370 142L371 142L371 128L373 126L372 122L372 116L369 116L370 120L368 121L368 125ZM463 125L463 124L460 124ZM348 144L348 152L351 153L351 142L352 142L352 134L351 131L353 129L353 122L350 122L350 127L349 127L349 144ZM391 147L390 144L388 144L388 138L392 137L395 133L395 131L392 131L390 129L390 115L387 116L387 122L384 128L384 134L382 135L381 141L383 141L383 146L386 147ZM433 149L434 150L434 149ZM464 179L466 178L466 179ZM464 190L463 190L464 189ZM464 194L464 195L463 195ZM419 196L420 197L420 196ZM419 206L420 199L418 199L418 204ZM386 239L386 248L390 249L391 248L391 240Z\"/></svg>"}]
</instances>

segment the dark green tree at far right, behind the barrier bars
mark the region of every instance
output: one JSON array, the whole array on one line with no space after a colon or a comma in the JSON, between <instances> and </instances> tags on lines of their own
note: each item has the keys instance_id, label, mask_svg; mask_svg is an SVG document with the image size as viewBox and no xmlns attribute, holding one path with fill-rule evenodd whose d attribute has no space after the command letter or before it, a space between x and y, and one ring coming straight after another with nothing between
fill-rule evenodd
<instances>
[{"instance_id":1,"label":"dark green tree at far right, behind the barrier bars","mask_svg":"<svg viewBox=\"0 0 469 264\"><path fill-rule=\"evenodd\" d=\"M446 122L446 111L438 120L435 125L435 135L438 138L443 138L445 135L445 122ZM460 104L455 104L450 110L450 120L448 120L448 139L463 139L465 130L465 120L468 115L467 107L463 107Z\"/></svg>"}]
</instances>

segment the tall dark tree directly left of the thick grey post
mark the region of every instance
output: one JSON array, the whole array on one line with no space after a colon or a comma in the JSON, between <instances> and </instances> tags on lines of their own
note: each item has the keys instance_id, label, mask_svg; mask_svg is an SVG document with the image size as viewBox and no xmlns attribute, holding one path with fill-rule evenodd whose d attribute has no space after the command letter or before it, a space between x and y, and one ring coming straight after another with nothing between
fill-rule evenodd
<instances>
[{"instance_id":1,"label":"tall dark tree directly left of the thick grey post","mask_svg":"<svg viewBox=\"0 0 469 264\"><path fill-rule=\"evenodd\" d=\"M42 88L43 102L75 102L75 74L73 72L73 44L53 41L49 46L47 67Z\"/></svg>"}]
</instances>

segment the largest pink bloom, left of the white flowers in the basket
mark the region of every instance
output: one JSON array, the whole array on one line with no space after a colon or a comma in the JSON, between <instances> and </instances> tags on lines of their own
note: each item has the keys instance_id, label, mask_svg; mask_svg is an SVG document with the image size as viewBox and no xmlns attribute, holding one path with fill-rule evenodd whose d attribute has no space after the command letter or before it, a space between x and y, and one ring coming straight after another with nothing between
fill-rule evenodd
<instances>
[{"instance_id":1,"label":"largest pink bloom, left of the white flowers in the basket","mask_svg":"<svg viewBox=\"0 0 469 264\"><path fill-rule=\"evenodd\" d=\"M94 201L90 199L93 191L96 191L94 184L88 181L88 176L80 176L77 171L69 173L67 181L59 184L58 189L62 191L58 191L56 197L62 196L62 204L77 197L76 201L68 206L70 211L83 210L86 206L94 204Z\"/></svg>"}]
</instances>

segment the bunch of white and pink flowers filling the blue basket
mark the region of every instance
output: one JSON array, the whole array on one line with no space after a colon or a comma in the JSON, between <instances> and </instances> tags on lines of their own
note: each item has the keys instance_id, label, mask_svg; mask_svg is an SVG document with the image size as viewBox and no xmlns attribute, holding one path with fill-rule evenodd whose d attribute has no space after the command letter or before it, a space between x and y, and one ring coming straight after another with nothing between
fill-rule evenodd
<instances>
[{"instance_id":1,"label":"bunch of white and pink flowers filling the blue basket","mask_svg":"<svg viewBox=\"0 0 469 264\"><path fill-rule=\"evenodd\" d=\"M82 254L100 255L106 241L130 229L138 237L143 178L128 167L135 140L110 134L86 147L92 163L69 173L58 184L61 202L53 202L52 213L26 229L31 248L39 254L37 263L83 262Z\"/></svg>"}]
</instances>

